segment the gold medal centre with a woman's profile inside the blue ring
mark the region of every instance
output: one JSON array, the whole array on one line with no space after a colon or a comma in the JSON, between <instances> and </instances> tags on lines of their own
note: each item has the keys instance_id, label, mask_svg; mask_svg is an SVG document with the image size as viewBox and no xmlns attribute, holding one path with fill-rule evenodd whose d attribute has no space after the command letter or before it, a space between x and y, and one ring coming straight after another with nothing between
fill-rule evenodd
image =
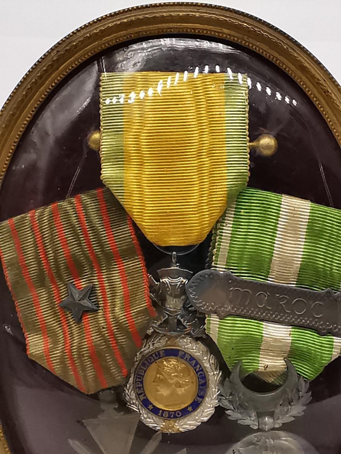
<instances>
[{"instance_id":1,"label":"gold medal centre with a woman's profile inside the blue ring","mask_svg":"<svg viewBox=\"0 0 341 454\"><path fill-rule=\"evenodd\" d=\"M176 411L190 405L198 392L193 368L180 358L160 358L145 371L145 395L162 410Z\"/></svg>"}]
</instances>

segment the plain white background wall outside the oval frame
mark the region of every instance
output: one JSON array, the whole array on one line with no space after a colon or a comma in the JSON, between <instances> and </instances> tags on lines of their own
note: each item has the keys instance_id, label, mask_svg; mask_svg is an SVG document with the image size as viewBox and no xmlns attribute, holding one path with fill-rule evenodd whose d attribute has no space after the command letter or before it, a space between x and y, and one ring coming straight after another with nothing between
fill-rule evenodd
<instances>
[{"instance_id":1,"label":"plain white background wall outside the oval frame","mask_svg":"<svg viewBox=\"0 0 341 454\"><path fill-rule=\"evenodd\" d=\"M148 0L145 0L147 2ZM0 0L0 106L46 50L80 25L143 0ZM211 0L270 22L341 83L341 0Z\"/></svg>"}]
</instances>

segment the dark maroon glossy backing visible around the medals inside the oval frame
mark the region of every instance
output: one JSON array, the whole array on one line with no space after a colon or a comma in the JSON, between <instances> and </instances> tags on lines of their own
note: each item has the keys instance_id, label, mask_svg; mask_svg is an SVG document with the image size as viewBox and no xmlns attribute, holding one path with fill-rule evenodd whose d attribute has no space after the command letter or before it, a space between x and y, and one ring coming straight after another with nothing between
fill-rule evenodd
<instances>
[{"instance_id":1,"label":"dark maroon glossy backing visible around the medals inside the oval frame","mask_svg":"<svg viewBox=\"0 0 341 454\"><path fill-rule=\"evenodd\" d=\"M235 44L163 37L109 49L78 67L53 90L26 128L10 162L0 191L1 221L103 186L100 154L88 139L100 130L100 74L135 72L178 73L182 79L184 74L243 75L250 142L270 134L278 143L276 152L268 156L251 147L248 186L341 209L339 146L293 79L267 59ZM149 88L145 87L145 96ZM139 93L136 90L136 96ZM139 140L143 140L143 128ZM172 197L169 194L169 202ZM150 275L155 277L158 270L171 266L173 251L182 268L193 273L206 268L211 233L197 246L156 247L140 225L134 223L134 228ZM196 429L161 436L126 408L123 386L102 395L85 395L30 360L3 274L0 286L0 419L13 453L341 452L340 359L326 365L311 381L312 400L304 414L278 430L261 433L238 424L217 406L214 415ZM218 359L223 375L228 375L214 342L209 337L203 342ZM197 380L193 377L189 380ZM244 384L259 392L277 386L256 375L248 375ZM112 403L116 391L118 406ZM187 395L186 405L190 400Z\"/></svg>"}]
</instances>

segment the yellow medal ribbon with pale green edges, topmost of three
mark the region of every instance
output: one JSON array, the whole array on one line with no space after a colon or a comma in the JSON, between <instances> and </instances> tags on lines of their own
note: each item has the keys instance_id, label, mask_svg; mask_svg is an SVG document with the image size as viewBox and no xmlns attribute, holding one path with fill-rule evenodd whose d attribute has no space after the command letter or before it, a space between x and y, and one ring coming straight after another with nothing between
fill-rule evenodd
<instances>
[{"instance_id":1,"label":"yellow medal ribbon with pale green edges, topmost of three","mask_svg":"<svg viewBox=\"0 0 341 454\"><path fill-rule=\"evenodd\" d=\"M246 75L104 73L102 179L160 246L200 243L248 180Z\"/></svg>"}]
</instances>

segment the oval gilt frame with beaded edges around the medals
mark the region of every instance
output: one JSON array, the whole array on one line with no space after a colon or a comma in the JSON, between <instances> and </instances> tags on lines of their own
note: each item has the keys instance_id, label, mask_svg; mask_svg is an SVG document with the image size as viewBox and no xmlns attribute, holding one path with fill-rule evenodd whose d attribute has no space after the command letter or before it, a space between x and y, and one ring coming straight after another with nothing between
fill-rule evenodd
<instances>
[{"instance_id":1,"label":"oval gilt frame with beaded edges around the medals","mask_svg":"<svg viewBox=\"0 0 341 454\"><path fill-rule=\"evenodd\" d=\"M55 44L25 74L0 111L0 184L30 119L70 71L111 46L165 34L226 39L271 60L301 86L341 144L341 87L290 36L254 16L221 6L146 5L108 14L81 26ZM0 428L0 454L9 452Z\"/></svg>"}]
</instances>

